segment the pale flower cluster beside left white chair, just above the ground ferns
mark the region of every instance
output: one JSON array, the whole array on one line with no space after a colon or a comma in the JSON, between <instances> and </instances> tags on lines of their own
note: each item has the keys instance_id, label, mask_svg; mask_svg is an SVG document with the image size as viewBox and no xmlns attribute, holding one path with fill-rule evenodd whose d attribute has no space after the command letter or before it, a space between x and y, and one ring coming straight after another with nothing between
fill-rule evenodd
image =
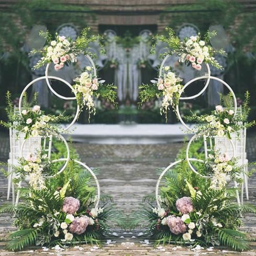
<instances>
[{"instance_id":1,"label":"pale flower cluster beside left white chair, just above the ground ferns","mask_svg":"<svg viewBox=\"0 0 256 256\"><path fill-rule=\"evenodd\" d=\"M30 186L35 190L42 190L45 188L44 176L49 175L50 165L46 154L40 151L36 154L29 153L26 157L21 157L18 165L13 167L13 182L17 183L29 176Z\"/></svg>"}]
</instances>

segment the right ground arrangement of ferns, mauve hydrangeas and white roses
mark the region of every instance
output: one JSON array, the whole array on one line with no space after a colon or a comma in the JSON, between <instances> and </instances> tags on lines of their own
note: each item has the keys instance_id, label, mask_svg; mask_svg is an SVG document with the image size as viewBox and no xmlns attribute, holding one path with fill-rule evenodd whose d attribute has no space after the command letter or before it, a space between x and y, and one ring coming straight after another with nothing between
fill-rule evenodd
<instances>
[{"instance_id":1,"label":"right ground arrangement of ferns, mauve hydrangeas and white roses","mask_svg":"<svg viewBox=\"0 0 256 256\"><path fill-rule=\"evenodd\" d=\"M146 197L149 206L135 216L135 224L147 220L145 235L156 244L180 243L191 246L227 246L232 250L249 249L249 236L238 228L241 217L256 213L252 205L239 206L234 202L235 190L225 186L211 188L210 179L196 176L190 183L179 167L165 176L160 188L160 208L153 207L153 198ZM192 174L193 176L193 174Z\"/></svg>"}]
</instances>

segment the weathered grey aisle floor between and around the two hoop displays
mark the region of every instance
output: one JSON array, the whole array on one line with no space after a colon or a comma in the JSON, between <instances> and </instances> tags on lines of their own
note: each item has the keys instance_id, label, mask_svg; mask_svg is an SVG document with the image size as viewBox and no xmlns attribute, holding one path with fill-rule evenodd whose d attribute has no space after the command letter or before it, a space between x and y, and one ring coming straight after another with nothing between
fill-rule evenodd
<instances>
[{"instance_id":1,"label":"weathered grey aisle floor between and around the two hoop displays","mask_svg":"<svg viewBox=\"0 0 256 256\"><path fill-rule=\"evenodd\" d=\"M0 134L1 135L1 134ZM0 136L0 160L6 161L8 157L8 137ZM256 138L248 139L248 158L255 160ZM132 210L137 210L142 197L154 192L158 173L156 167L166 167L176 158L182 143L155 144L155 145L95 145L74 143L73 146L89 167L100 167L99 182L103 193L113 196L114 202L129 217ZM253 174L249 183L250 202L256 204L256 173ZM0 178L0 202L6 202L7 182L1 174ZM256 218L248 216L245 219L246 226L243 228L256 238ZM3 239L7 232L15 230L11 226L11 218L7 215L0 216L0 236ZM148 238L141 237L141 230L125 231L114 230L117 236L108 238L103 248L80 246L68 248L65 251L30 248L22 255L239 255L238 252L228 252L225 248L213 251L191 251L189 248L177 248L174 246L154 248ZM0 242L0 255L13 255L13 252L4 250L5 242ZM256 244L252 242L254 250L242 252L242 254L255 255ZM176 250L175 250L176 249ZM205 248L206 249L206 248Z\"/></svg>"}]
</instances>

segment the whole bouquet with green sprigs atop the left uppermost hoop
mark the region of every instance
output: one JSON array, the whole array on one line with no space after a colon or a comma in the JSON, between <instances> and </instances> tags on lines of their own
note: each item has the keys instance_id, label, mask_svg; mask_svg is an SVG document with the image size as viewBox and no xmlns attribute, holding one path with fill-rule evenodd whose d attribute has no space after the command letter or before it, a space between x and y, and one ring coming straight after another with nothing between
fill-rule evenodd
<instances>
[{"instance_id":1,"label":"whole bouquet with green sprigs atop the left uppermost hoop","mask_svg":"<svg viewBox=\"0 0 256 256\"><path fill-rule=\"evenodd\" d=\"M88 37L89 30L90 28L83 29L75 41L65 36L59 36L57 33L53 39L49 31L40 31L39 35L46 39L46 46L40 51L31 51L30 54L40 53L42 55L41 60L34 66L34 69L53 63L55 70L59 70L64 65L76 62L79 54L86 54L85 49L88 43L99 39L99 36Z\"/></svg>"}]
</instances>

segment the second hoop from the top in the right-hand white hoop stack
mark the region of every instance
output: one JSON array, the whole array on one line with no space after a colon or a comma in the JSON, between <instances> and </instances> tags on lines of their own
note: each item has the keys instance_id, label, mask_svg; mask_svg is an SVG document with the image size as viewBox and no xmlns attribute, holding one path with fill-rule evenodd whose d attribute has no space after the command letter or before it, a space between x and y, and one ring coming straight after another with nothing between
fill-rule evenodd
<instances>
[{"instance_id":1,"label":"second hoop from the top in the right-hand white hoop stack","mask_svg":"<svg viewBox=\"0 0 256 256\"><path fill-rule=\"evenodd\" d=\"M226 83L224 82L222 79L218 78L218 77L215 77L215 76L200 76L200 77L196 77L192 80L190 80L186 86L184 86L182 89L181 89L181 94L182 92L184 91L184 89L186 87L188 87L191 83L195 82L196 80L200 80L200 79L205 79L205 78L210 78L210 79L214 79L214 80L217 80L218 82L222 83L223 85L225 85L228 90L231 92L232 94L232 97L233 97L233 100L234 100L234 116L236 115L236 112L237 112L237 100L236 100L236 96L234 94L234 91L231 89L231 87ZM181 99L181 98L180 98ZM180 120L180 122L191 132L193 132L193 130L187 125L185 124L185 122L183 121L181 115L180 115L180 111L179 111L179 102L177 103L176 105L176 112L177 112L177 115L178 115L178 119Z\"/></svg>"}]
</instances>

